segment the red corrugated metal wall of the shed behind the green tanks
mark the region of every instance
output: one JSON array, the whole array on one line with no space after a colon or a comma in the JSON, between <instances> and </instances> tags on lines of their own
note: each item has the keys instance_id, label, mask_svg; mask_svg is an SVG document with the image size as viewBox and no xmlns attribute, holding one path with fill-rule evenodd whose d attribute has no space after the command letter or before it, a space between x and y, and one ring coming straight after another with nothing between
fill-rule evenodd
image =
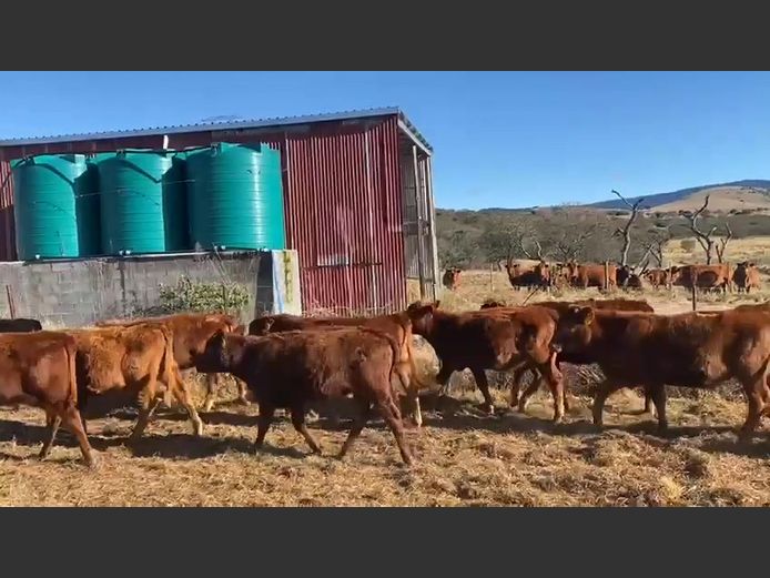
<instances>
[{"instance_id":1,"label":"red corrugated metal wall of the shed behind the green tanks","mask_svg":"<svg viewBox=\"0 0 770 578\"><path fill-rule=\"evenodd\" d=\"M282 152L286 241L300 255L302 301L305 311L336 313L393 312L406 304L404 215L411 191L401 163L397 116L325 122L265 130L205 131L169 135L169 148L201 146L212 142L269 142ZM120 148L161 148L163 136L132 136L0 149L0 159L58 152L101 152ZM402 146L404 149L404 146ZM412 151L409 149L409 154ZM426 163L418 162L422 217L426 219ZM7 163L3 163L2 175ZM2 204L12 206L10 175L3 181ZM8 221L8 222L7 222ZM16 258L10 216L0 221L0 258ZM10 226L9 226L10 225ZM10 235L10 236L9 236ZM432 255L429 232L423 237ZM10 244L9 241L10 240ZM413 243L416 242L416 239ZM415 253L416 255L416 253ZM424 278L432 280L432 262L424 263ZM409 266L412 261L408 261ZM418 275L415 275L418 277Z\"/></svg>"}]
</instances>

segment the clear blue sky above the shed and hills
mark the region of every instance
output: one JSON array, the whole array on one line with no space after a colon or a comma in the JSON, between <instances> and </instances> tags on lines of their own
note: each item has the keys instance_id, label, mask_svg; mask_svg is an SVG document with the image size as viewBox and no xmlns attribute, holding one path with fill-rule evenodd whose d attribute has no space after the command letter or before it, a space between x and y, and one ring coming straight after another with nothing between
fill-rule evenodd
<instances>
[{"instance_id":1,"label":"clear blue sky above the shed and hills","mask_svg":"<svg viewBox=\"0 0 770 578\"><path fill-rule=\"evenodd\" d=\"M389 105L440 207L770 179L766 72L0 72L0 138Z\"/></svg>"}]
</instances>

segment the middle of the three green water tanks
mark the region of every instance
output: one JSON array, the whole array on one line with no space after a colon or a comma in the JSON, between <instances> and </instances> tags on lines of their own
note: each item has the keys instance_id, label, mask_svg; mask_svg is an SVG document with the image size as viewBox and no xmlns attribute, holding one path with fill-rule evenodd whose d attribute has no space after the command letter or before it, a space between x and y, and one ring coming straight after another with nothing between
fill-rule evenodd
<instances>
[{"instance_id":1,"label":"middle of the three green water tanks","mask_svg":"<svg viewBox=\"0 0 770 578\"><path fill-rule=\"evenodd\" d=\"M183 156L126 150L100 154L97 164L103 253L190 249Z\"/></svg>"}]
</instances>

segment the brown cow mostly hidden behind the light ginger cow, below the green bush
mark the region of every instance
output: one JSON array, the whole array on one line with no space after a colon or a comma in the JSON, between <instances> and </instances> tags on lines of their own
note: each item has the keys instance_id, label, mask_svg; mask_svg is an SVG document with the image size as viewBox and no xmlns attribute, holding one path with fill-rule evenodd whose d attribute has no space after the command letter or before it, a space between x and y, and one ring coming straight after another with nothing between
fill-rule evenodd
<instances>
[{"instance_id":1,"label":"brown cow mostly hidden behind the light ginger cow, below the green bush","mask_svg":"<svg viewBox=\"0 0 770 578\"><path fill-rule=\"evenodd\" d=\"M123 326L143 323L161 323L169 327L174 336L174 358L181 371L194 367L194 357L203 351L206 339L214 335L219 329L237 332L243 335L243 327L230 315L220 313L181 313L176 315L163 315L159 317L145 317L140 320L116 320L97 323L98 327ZM203 402L203 410L210 412L214 406L216 385L219 375L206 374L206 396ZM239 388L239 400L243 405L249 405L246 397L246 385L235 379Z\"/></svg>"}]
</instances>

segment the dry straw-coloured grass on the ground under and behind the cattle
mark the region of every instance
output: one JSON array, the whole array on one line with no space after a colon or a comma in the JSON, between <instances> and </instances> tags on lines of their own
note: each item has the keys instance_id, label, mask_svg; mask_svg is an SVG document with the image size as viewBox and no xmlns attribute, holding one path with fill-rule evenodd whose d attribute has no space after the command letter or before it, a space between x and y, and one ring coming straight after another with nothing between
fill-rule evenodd
<instances>
[{"instance_id":1,"label":"dry straw-coloured grass on the ground under and behind the cattle","mask_svg":"<svg viewBox=\"0 0 770 578\"><path fill-rule=\"evenodd\" d=\"M465 272L443 306L477 308L494 296L520 303L505 276ZM575 293L563 294L570 298ZM543 298L533 296L531 301ZM685 292L646 294L667 312L689 307ZM763 297L759 295L758 297ZM710 297L705 307L723 307ZM429 347L421 347L425 371L435 371ZM584 377L581 379L581 376ZM85 470L71 437L60 434L51 457L36 455L43 415L31 408L0 409L0 504L78 506L769 506L770 439L767 429L739 443L734 428L744 415L738 395L672 395L671 432L655 434L634 392L608 400L609 427L589 422L590 384L568 374L573 412L563 426L549 422L550 398L538 393L523 416L507 408L507 392L495 392L498 415L483 416L480 396L455 376L456 399L426 398L425 426L409 432L418 463L401 464L391 433L381 422L364 430L345 462L331 454L346 429L324 419L312 424L325 450L307 455L291 424L282 418L267 437L269 448L250 453L256 409L222 405L202 414L205 437L195 439L176 409L159 414L144 439L122 445L134 413L122 409L89 422L100 464ZM505 378L499 378L505 384ZM729 389L729 388L728 388ZM729 394L729 391L727 392ZM234 387L223 392L235 397ZM343 404L343 415L345 405Z\"/></svg>"}]
</instances>

